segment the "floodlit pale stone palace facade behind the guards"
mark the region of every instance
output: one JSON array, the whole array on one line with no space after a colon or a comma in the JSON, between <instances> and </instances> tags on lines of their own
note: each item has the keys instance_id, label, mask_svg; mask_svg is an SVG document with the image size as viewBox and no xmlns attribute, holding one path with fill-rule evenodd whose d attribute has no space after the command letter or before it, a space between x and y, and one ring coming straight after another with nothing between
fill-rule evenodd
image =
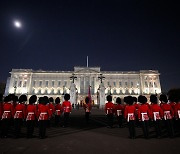
<instances>
[{"instance_id":1,"label":"floodlit pale stone palace facade behind the guards","mask_svg":"<svg viewBox=\"0 0 180 154\"><path fill-rule=\"evenodd\" d=\"M157 70L101 71L100 67L74 67L74 71L45 71L12 69L7 80L5 95L26 94L28 97L48 95L61 97L70 92L72 83L76 86L77 102L88 95L90 87L94 104L98 104L99 85L105 87L105 95L116 97L126 95L160 94L160 73Z\"/></svg>"}]
</instances>

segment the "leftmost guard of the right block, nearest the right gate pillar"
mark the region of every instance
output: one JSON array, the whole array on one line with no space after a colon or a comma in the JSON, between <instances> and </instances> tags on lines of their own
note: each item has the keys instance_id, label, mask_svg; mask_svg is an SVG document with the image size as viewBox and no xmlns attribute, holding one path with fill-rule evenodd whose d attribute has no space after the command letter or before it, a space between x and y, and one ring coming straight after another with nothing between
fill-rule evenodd
<instances>
[{"instance_id":1,"label":"leftmost guard of the right block, nearest the right gate pillar","mask_svg":"<svg viewBox=\"0 0 180 154\"><path fill-rule=\"evenodd\" d=\"M107 123L108 123L108 128L112 128L113 127L113 118L114 118L114 104L112 103L112 96L108 95L106 97L107 99L107 103L105 104L105 113L107 116Z\"/></svg>"}]
</instances>

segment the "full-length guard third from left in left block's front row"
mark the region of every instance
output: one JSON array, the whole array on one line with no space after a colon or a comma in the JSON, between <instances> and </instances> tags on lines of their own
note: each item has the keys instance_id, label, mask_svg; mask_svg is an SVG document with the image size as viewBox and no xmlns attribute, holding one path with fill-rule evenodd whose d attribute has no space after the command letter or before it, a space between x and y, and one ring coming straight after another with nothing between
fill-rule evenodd
<instances>
[{"instance_id":1,"label":"full-length guard third from left in left block's front row","mask_svg":"<svg viewBox=\"0 0 180 154\"><path fill-rule=\"evenodd\" d=\"M26 125L27 125L27 138L33 137L33 132L34 132L34 125L35 125L35 119L36 119L36 106L34 103L37 101L37 96L32 95L29 98L29 104L27 105L26 108Z\"/></svg>"}]
</instances>

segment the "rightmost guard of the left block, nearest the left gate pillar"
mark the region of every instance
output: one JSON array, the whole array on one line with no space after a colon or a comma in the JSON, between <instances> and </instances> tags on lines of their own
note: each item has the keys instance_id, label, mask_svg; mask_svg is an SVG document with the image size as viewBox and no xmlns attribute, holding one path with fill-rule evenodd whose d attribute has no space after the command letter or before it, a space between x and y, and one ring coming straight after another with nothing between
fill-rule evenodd
<instances>
[{"instance_id":1,"label":"rightmost guard of the left block, nearest the left gate pillar","mask_svg":"<svg viewBox=\"0 0 180 154\"><path fill-rule=\"evenodd\" d=\"M69 101L69 99L70 99L70 95L65 94L64 95L65 101L62 103L62 108L63 108L63 112L64 112L64 125L63 125L63 127L68 126L69 114L71 113L71 110L72 110L71 102Z\"/></svg>"}]
</instances>

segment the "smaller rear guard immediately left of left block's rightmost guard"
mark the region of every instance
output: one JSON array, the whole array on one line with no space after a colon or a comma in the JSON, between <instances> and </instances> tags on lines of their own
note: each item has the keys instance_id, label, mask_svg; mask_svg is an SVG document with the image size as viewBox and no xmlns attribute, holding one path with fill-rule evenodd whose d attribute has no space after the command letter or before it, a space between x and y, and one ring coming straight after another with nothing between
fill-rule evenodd
<instances>
[{"instance_id":1,"label":"smaller rear guard immediately left of left block's rightmost guard","mask_svg":"<svg viewBox=\"0 0 180 154\"><path fill-rule=\"evenodd\" d=\"M62 106L60 104L60 98L57 97L55 99L55 126L59 126L60 123L60 117L61 117L61 113L62 113Z\"/></svg>"}]
</instances>

